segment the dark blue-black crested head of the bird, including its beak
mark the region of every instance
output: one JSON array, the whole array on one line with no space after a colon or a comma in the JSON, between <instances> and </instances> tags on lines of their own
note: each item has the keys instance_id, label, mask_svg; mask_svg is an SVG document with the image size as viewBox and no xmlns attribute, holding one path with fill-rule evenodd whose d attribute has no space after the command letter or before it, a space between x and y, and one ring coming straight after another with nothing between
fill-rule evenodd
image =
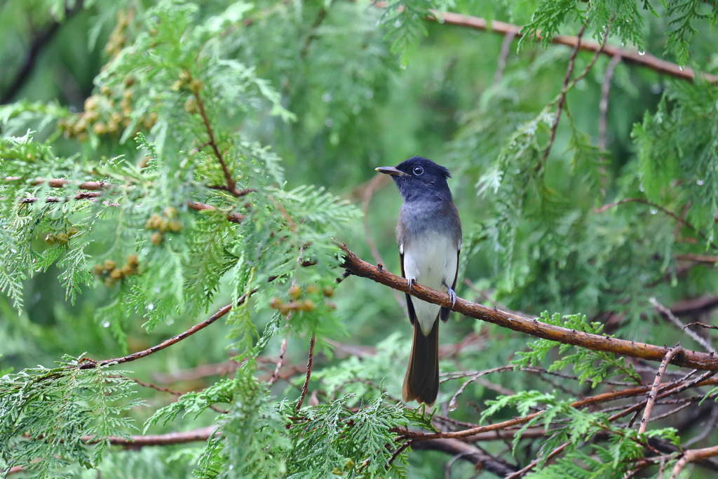
<instances>
[{"instance_id":1,"label":"dark blue-black crested head of the bird, including its beak","mask_svg":"<svg viewBox=\"0 0 718 479\"><path fill-rule=\"evenodd\" d=\"M447 185L449 170L424 157L411 157L396 167L381 167L378 172L391 175L404 203L416 200L451 201Z\"/></svg>"}]
</instances>

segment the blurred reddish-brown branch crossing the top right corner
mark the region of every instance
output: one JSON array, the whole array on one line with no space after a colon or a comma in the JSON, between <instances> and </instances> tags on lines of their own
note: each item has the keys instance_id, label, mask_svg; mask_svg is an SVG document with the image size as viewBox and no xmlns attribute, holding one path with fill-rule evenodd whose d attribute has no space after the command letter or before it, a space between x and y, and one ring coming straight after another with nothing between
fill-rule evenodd
<instances>
[{"instance_id":1,"label":"blurred reddish-brown branch crossing the top right corner","mask_svg":"<svg viewBox=\"0 0 718 479\"><path fill-rule=\"evenodd\" d=\"M377 6L381 6L381 4L377 4ZM487 21L486 19L482 19L480 17L470 17L468 15L456 14L450 11L443 14L439 11L432 11L432 15L425 17L425 19L428 21L437 21L438 19L439 22L442 22L442 24L457 25L460 27L490 31L498 34L513 32L517 37L521 36L519 32L522 27L518 25L498 22L497 20ZM541 35L539 34L537 39L540 38ZM579 42L579 39L577 37L572 37L571 35L556 35L555 37L551 37L550 42L556 45L574 47L574 45ZM612 45L602 46L599 42L593 41L582 41L580 49L587 52L600 52L602 55L608 55L609 57L620 55L624 62L632 63L633 65L638 65L644 68L650 68L653 71L662 73L663 75L669 75L673 78L691 81L696 78L696 72L693 69L688 67L681 68L681 66L676 65L676 63L666 62L666 60L656 58L648 52L645 52L645 55L640 55L638 50L625 50ZM701 75L702 78L705 78L712 83L718 83L718 76L716 75L708 75L700 72L697 73L697 75Z\"/></svg>"}]
</instances>

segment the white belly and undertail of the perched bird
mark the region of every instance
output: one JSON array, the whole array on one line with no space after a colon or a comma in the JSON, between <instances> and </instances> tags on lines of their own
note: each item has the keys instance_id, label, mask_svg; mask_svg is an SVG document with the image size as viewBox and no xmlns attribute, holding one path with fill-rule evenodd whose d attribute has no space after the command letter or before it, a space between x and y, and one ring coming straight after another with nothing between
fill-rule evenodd
<instances>
[{"instance_id":1,"label":"white belly and undertail of the perched bird","mask_svg":"<svg viewBox=\"0 0 718 479\"><path fill-rule=\"evenodd\" d=\"M406 278L414 278L417 283L426 287L447 292L444 284L451 286L456 277L457 251L460 245L449 236L435 231L413 238L411 243L401 245L404 251L404 274ZM416 320L421 325L421 332L428 335L439 315L439 304L432 304L411 298L414 304Z\"/></svg>"}]
</instances>

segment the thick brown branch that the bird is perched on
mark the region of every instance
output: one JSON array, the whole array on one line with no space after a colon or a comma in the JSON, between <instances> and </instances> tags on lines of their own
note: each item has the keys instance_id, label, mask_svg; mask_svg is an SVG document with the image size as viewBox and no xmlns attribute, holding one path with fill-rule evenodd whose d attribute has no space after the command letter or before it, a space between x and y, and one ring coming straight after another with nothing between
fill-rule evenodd
<instances>
[{"instance_id":1,"label":"thick brown branch that the bird is perched on","mask_svg":"<svg viewBox=\"0 0 718 479\"><path fill-rule=\"evenodd\" d=\"M536 336L537 338L544 338L563 344L571 344L590 350L629 356L631 358L640 358L648 361L661 361L661 359L666 356L666 353L668 353L668 348L658 345L635 343L628 340L593 335L577 330L569 330L566 327L549 325L536 319L529 320L525 317L495 310L462 298L457 298L456 302L452 304L452 300L449 298L448 294L438 292L434 289L430 289L416 283L414 283L411 290L409 290L406 279L401 276L396 276L396 274L391 274L389 271L386 271L386 269L378 269L376 266L359 259L355 254L349 251L344 244L340 247L345 252L344 263L342 266L351 274L371 279L372 281L383 284L384 286L409 293L418 299L432 304L439 304L468 317L484 320L510 330L524 332L528 335ZM673 364L686 368L718 371L718 358L715 358L714 355L699 353L697 351L682 350L681 353L677 354L673 358Z\"/></svg>"}]
</instances>

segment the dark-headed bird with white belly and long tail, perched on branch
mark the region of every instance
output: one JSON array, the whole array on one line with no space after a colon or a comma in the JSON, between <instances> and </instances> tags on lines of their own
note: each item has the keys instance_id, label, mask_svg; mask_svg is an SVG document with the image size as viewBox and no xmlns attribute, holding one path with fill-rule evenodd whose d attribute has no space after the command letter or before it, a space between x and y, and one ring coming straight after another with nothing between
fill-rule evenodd
<instances>
[{"instance_id":1,"label":"dark-headed bird with white belly and long tail, perched on branch","mask_svg":"<svg viewBox=\"0 0 718 479\"><path fill-rule=\"evenodd\" d=\"M449 293L456 301L456 279L461 251L461 220L447 185L449 170L422 157L376 171L391 175L404 204L399 210L396 241L401 276ZM409 367L401 395L405 402L434 404L439 393L439 318L446 322L445 307L406 294L409 320L414 325Z\"/></svg>"}]
</instances>

